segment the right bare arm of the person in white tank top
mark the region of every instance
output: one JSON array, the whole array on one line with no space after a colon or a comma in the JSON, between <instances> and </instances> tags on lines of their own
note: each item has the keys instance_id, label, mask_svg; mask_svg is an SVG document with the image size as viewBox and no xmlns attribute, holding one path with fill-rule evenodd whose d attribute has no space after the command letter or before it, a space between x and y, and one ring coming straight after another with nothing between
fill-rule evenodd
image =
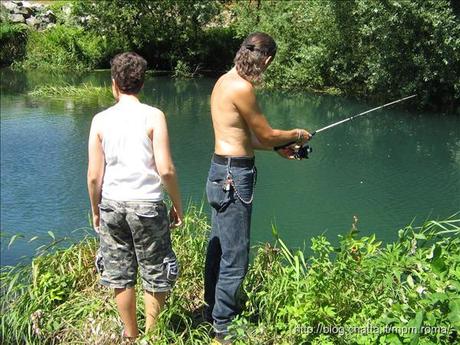
<instances>
[{"instance_id":1,"label":"right bare arm of the person in white tank top","mask_svg":"<svg viewBox=\"0 0 460 345\"><path fill-rule=\"evenodd\" d=\"M172 225L180 226L183 219L182 200L177 182L176 168L174 167L169 147L168 127L165 116L161 111L158 111L158 114L154 117L153 152L158 173L173 203L170 211Z\"/></svg>"}]
</instances>

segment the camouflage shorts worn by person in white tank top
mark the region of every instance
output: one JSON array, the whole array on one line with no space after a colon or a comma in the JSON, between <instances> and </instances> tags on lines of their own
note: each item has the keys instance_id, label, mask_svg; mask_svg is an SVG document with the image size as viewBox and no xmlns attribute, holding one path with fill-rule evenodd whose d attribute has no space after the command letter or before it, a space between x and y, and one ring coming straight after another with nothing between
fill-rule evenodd
<instances>
[{"instance_id":1,"label":"camouflage shorts worn by person in white tank top","mask_svg":"<svg viewBox=\"0 0 460 345\"><path fill-rule=\"evenodd\" d=\"M166 205L162 201L103 199L99 208L100 283L112 288L133 287L139 266L145 290L170 291L179 270Z\"/></svg>"}]
</instances>

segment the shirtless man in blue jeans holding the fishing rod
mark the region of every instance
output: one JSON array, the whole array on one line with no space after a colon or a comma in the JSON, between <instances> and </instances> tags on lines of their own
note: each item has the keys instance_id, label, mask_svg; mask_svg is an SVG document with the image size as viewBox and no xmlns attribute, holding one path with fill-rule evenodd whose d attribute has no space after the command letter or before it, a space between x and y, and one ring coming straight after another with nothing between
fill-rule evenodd
<instances>
[{"instance_id":1,"label":"shirtless man in blue jeans holding the fishing rod","mask_svg":"<svg viewBox=\"0 0 460 345\"><path fill-rule=\"evenodd\" d=\"M304 129L272 128L257 104L254 85L275 54L276 43L269 35L249 35L235 56L235 67L219 78L211 95L215 153L206 183L212 230L206 253L205 301L216 340L222 343L240 311L237 293L249 262L254 149L272 150L292 142L301 145L311 137ZM294 146L277 152L293 159Z\"/></svg>"}]
</instances>

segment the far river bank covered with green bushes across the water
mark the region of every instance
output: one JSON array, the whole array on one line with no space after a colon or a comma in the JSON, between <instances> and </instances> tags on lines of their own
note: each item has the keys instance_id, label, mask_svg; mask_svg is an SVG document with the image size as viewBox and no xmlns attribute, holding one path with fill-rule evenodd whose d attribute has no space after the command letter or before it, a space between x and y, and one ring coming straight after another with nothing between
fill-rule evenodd
<instances>
[{"instance_id":1,"label":"far river bank covered with green bushes across the water","mask_svg":"<svg viewBox=\"0 0 460 345\"><path fill-rule=\"evenodd\" d=\"M21 1L5 4L0 66L88 71L134 50L151 69L192 77L228 70L246 35L264 31L278 44L266 88L379 102L417 93L419 109L460 111L460 7L450 0L54 1L44 2L46 29Z\"/></svg>"}]
</instances>

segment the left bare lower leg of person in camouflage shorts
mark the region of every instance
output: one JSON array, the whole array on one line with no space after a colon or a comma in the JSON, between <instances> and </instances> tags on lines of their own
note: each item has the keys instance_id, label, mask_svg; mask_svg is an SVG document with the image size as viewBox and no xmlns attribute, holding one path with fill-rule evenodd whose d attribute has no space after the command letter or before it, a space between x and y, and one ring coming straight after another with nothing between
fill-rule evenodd
<instances>
[{"instance_id":1,"label":"left bare lower leg of person in camouflage shorts","mask_svg":"<svg viewBox=\"0 0 460 345\"><path fill-rule=\"evenodd\" d=\"M118 313L124 324L124 335L135 338L139 335L136 319L136 290L134 287L115 289Z\"/></svg>"}]
</instances>

